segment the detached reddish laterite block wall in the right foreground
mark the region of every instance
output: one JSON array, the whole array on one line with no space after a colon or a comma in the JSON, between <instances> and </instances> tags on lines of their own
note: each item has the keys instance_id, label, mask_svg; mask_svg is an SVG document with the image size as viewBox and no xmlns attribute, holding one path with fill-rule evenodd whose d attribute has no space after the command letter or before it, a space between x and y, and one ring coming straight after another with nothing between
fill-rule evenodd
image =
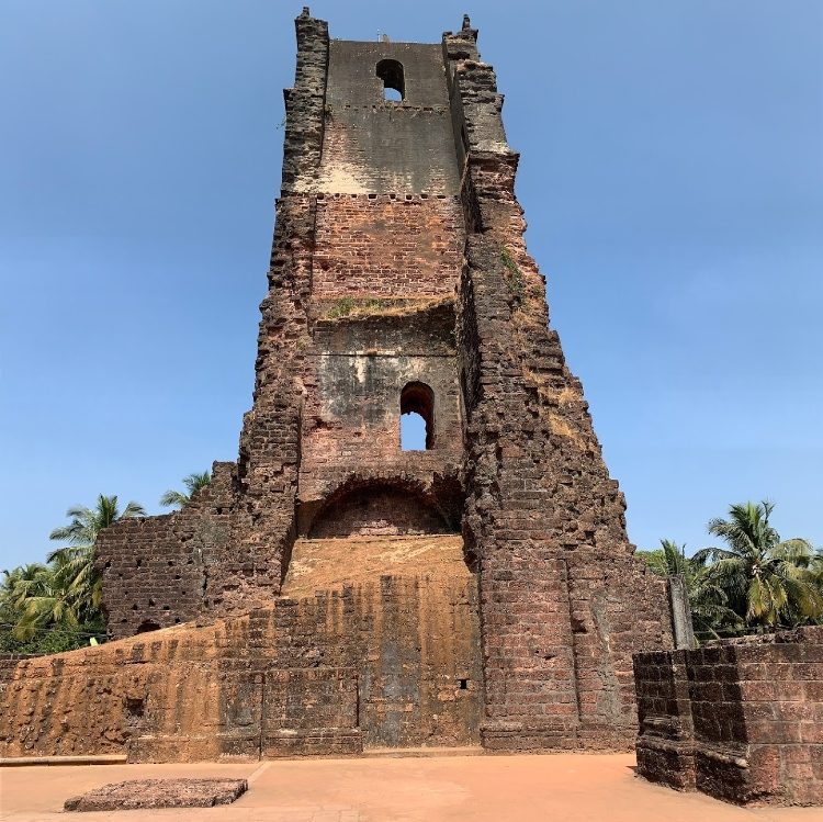
<instances>
[{"instance_id":1,"label":"detached reddish laterite block wall in the right foreground","mask_svg":"<svg viewBox=\"0 0 823 822\"><path fill-rule=\"evenodd\" d=\"M823 804L823 627L634 655L638 773L740 804Z\"/></svg>"}]
</instances>

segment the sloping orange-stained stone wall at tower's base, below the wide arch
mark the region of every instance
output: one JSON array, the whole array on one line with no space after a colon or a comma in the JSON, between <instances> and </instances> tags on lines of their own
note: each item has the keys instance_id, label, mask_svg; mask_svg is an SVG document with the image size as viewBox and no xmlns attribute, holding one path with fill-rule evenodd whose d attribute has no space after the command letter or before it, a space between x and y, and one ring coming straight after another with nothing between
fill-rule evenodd
<instances>
[{"instance_id":1,"label":"sloping orange-stained stone wall at tower's base, below the wide arch","mask_svg":"<svg viewBox=\"0 0 823 822\"><path fill-rule=\"evenodd\" d=\"M0 756L480 743L477 583L459 536L300 543L292 572L288 596L243 616L0 661Z\"/></svg>"}]
</instances>

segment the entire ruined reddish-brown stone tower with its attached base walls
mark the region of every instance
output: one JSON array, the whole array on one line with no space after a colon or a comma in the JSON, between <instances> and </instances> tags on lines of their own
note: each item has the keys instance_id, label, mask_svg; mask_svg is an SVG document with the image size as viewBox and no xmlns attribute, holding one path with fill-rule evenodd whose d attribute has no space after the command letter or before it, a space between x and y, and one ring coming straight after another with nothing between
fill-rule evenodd
<instances>
[{"instance_id":1,"label":"entire ruined reddish-brown stone tower with its attached base walls","mask_svg":"<svg viewBox=\"0 0 823 822\"><path fill-rule=\"evenodd\" d=\"M477 32L334 41L307 9L296 30L239 459L105 531L120 641L18 665L5 751L628 747L665 584L549 326Z\"/></svg>"}]
</instances>

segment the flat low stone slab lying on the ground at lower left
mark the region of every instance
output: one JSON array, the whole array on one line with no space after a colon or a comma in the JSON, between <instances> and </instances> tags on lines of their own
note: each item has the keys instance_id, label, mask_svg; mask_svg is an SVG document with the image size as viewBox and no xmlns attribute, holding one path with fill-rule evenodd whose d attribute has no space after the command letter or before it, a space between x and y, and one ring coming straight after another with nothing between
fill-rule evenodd
<instances>
[{"instance_id":1,"label":"flat low stone slab lying on the ground at lower left","mask_svg":"<svg viewBox=\"0 0 823 822\"><path fill-rule=\"evenodd\" d=\"M128 779L67 799L67 811L143 808L213 808L230 804L248 790L246 779Z\"/></svg>"}]
</instances>

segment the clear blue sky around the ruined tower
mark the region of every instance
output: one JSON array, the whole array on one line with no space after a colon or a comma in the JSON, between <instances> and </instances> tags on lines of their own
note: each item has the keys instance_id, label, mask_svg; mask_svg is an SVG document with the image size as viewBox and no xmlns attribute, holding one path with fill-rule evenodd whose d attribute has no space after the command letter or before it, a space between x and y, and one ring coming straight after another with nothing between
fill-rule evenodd
<instances>
[{"instance_id":1,"label":"clear blue sky around the ruined tower","mask_svg":"<svg viewBox=\"0 0 823 822\"><path fill-rule=\"evenodd\" d=\"M0 4L0 567L236 458L301 4ZM312 11L367 41L472 14L631 539L695 549L768 496L823 544L823 3Z\"/></svg>"}]
</instances>

